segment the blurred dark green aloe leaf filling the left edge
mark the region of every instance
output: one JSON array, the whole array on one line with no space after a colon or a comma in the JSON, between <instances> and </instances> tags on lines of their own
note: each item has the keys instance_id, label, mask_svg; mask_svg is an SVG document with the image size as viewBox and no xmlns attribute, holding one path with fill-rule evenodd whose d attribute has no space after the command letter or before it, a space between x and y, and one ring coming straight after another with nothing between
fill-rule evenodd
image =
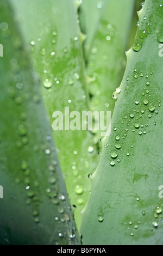
<instances>
[{"instance_id":1,"label":"blurred dark green aloe leaf filling the left edge","mask_svg":"<svg viewBox=\"0 0 163 256\"><path fill-rule=\"evenodd\" d=\"M0 16L0 243L79 245L39 82L7 1Z\"/></svg>"}]
</instances>

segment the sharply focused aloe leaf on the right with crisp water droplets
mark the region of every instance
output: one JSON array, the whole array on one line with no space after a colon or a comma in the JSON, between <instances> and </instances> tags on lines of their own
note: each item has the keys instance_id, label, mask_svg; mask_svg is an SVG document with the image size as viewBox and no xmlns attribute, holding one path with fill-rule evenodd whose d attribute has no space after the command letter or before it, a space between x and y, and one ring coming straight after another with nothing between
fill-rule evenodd
<instances>
[{"instance_id":1,"label":"sharply focused aloe leaf on the right with crisp water droplets","mask_svg":"<svg viewBox=\"0 0 163 256\"><path fill-rule=\"evenodd\" d=\"M163 1L146 0L83 210L84 245L162 245L162 18Z\"/></svg>"}]
</instances>

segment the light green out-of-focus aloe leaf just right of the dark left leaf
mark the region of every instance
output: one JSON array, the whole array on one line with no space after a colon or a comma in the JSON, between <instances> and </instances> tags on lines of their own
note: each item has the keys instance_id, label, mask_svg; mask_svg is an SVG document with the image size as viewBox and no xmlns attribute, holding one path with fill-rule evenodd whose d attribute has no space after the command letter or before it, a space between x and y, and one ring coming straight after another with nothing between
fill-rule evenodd
<instances>
[{"instance_id":1,"label":"light green out-of-focus aloe leaf just right of the dark left leaf","mask_svg":"<svg viewBox=\"0 0 163 256\"><path fill-rule=\"evenodd\" d=\"M89 109L88 78L82 51L84 38L74 1L10 2L32 65L41 80L41 93L51 126L55 120L53 112L64 114L65 107L69 107L70 113L78 111L82 116L82 111ZM77 206L75 217L79 226L80 211L90 191L88 175L97 166L97 140L89 131L58 130L53 131L53 135L71 204Z\"/></svg>"}]
</instances>

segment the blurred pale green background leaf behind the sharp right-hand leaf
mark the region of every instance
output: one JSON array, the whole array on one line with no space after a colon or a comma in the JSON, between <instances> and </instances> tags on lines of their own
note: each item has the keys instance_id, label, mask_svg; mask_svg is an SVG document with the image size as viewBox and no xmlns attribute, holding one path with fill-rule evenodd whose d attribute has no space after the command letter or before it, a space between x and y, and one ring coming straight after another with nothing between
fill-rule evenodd
<instances>
[{"instance_id":1,"label":"blurred pale green background leaf behind the sharp right-hand leaf","mask_svg":"<svg viewBox=\"0 0 163 256\"><path fill-rule=\"evenodd\" d=\"M135 1L114 0L104 2L95 40L90 51L87 74L92 77L89 85L92 110L110 111L115 101L112 94L121 83L126 64L125 50Z\"/></svg>"}]
</instances>

